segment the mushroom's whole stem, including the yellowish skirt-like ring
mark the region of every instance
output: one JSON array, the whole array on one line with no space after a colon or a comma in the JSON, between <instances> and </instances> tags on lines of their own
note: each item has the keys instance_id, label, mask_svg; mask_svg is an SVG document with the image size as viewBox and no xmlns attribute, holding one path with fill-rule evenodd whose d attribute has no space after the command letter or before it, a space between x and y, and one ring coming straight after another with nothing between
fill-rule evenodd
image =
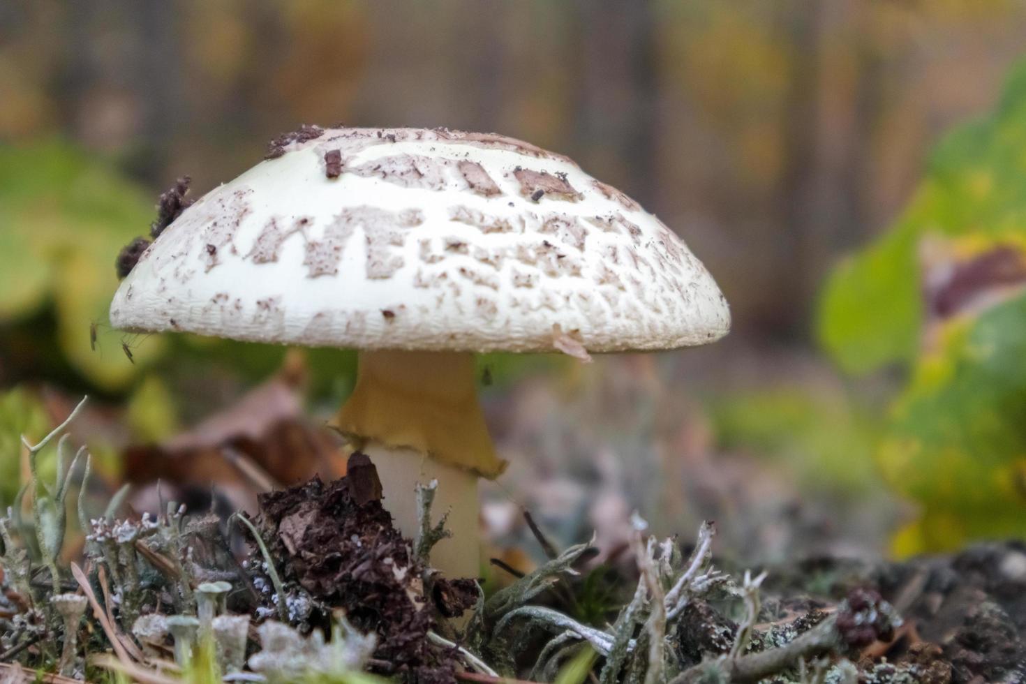
<instances>
[{"instance_id":1,"label":"mushroom's whole stem, including the yellowish skirt-like ring","mask_svg":"<svg viewBox=\"0 0 1026 684\"><path fill-rule=\"evenodd\" d=\"M361 352L356 388L337 421L377 467L385 508L405 536L418 532L417 484L438 480L433 511L449 511L452 537L434 548L431 562L450 577L478 575L477 478L506 466L475 380L471 354Z\"/></svg>"}]
</instances>

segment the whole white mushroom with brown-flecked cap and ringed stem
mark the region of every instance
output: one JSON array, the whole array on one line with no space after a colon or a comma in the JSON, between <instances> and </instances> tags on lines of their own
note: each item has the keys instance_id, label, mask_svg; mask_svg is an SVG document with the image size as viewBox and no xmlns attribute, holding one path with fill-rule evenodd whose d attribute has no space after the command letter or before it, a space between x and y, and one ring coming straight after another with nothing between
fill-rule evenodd
<instances>
[{"instance_id":1,"label":"whole white mushroom with brown-flecked cap and ringed stem","mask_svg":"<svg viewBox=\"0 0 1026 684\"><path fill-rule=\"evenodd\" d=\"M477 478L496 456L473 352L672 349L729 328L681 240L561 155L491 133L324 129L185 209L111 305L115 327L359 350L340 430L412 536L439 482L453 538L433 564L476 576Z\"/></svg>"}]
</instances>

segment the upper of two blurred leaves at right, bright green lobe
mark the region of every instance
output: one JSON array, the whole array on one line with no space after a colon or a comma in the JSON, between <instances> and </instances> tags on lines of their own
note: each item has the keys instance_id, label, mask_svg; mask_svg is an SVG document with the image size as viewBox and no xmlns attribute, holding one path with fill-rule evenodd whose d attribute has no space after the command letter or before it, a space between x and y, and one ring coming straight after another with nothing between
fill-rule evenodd
<instances>
[{"instance_id":1,"label":"upper of two blurred leaves at right, bright green lobe","mask_svg":"<svg viewBox=\"0 0 1026 684\"><path fill-rule=\"evenodd\" d=\"M941 143L909 206L875 244L841 263L817 334L847 372L909 363L922 326L917 249L924 235L1026 234L1026 63L988 118Z\"/></svg>"}]
</instances>

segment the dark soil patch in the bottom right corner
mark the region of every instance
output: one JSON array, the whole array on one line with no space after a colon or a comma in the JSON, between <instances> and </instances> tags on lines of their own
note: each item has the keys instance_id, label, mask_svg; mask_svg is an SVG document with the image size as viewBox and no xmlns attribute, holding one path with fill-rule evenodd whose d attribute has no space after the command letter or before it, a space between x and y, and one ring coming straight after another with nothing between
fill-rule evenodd
<instances>
[{"instance_id":1,"label":"dark soil patch in the bottom right corner","mask_svg":"<svg viewBox=\"0 0 1026 684\"><path fill-rule=\"evenodd\" d=\"M918 673L913 681L1026 682L1026 545L986 544L906 562L812 559L772 569L766 594L815 589L834 600L852 587L878 591L903 619L890 643L863 649L865 681L904 681L898 676L907 667ZM896 666L891 678L884 658Z\"/></svg>"}]
</instances>

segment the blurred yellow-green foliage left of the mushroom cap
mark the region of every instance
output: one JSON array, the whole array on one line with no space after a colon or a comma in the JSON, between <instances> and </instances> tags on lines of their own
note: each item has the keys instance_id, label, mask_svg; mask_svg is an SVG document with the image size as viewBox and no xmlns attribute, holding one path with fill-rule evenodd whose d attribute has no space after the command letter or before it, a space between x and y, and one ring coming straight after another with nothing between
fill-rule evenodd
<instances>
[{"instance_id":1,"label":"blurred yellow-green foliage left of the mushroom cap","mask_svg":"<svg viewBox=\"0 0 1026 684\"><path fill-rule=\"evenodd\" d=\"M153 203L106 164L60 140L0 146L0 323L52 303L60 348L71 365L105 390L123 389L135 369L115 353L120 335L106 325L117 287L114 257L146 232ZM107 353L90 345L90 326ZM158 338L133 346L137 363L156 356Z\"/></svg>"}]
</instances>

